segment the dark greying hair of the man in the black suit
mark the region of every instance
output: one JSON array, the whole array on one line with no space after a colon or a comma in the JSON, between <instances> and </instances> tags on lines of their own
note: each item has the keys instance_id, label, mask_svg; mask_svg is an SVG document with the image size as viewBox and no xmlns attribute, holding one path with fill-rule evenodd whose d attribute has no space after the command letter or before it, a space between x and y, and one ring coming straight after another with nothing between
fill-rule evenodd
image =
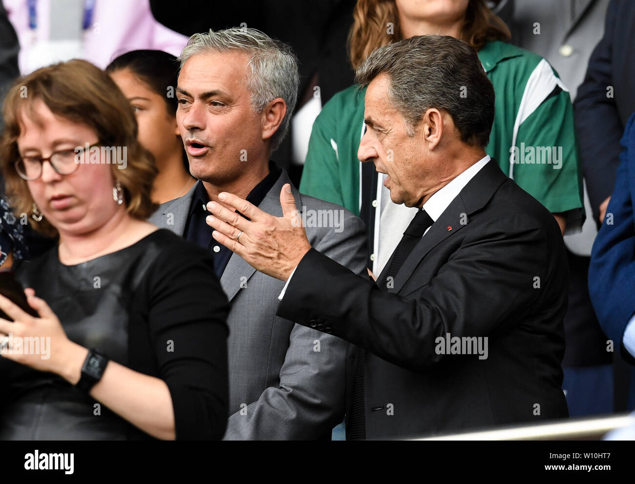
<instances>
[{"instance_id":1,"label":"dark greying hair of the man in the black suit","mask_svg":"<svg viewBox=\"0 0 635 484\"><path fill-rule=\"evenodd\" d=\"M410 136L430 108L448 112L467 144L485 147L494 121L494 86L476 50L449 36L415 36L373 50L359 65L356 82L390 77L388 97L406 120Z\"/></svg>"}]
</instances>

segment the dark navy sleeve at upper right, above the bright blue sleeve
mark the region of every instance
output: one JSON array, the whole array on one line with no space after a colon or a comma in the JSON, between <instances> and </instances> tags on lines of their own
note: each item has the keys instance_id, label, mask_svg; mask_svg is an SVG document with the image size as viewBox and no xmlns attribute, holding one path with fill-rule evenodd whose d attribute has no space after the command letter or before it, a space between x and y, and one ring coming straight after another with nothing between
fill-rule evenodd
<instances>
[{"instance_id":1,"label":"dark navy sleeve at upper right, above the bright blue sleeve","mask_svg":"<svg viewBox=\"0 0 635 484\"><path fill-rule=\"evenodd\" d=\"M606 11L604 37L589 58L589 67L573 103L580 140L582 171L587 182L594 220L599 206L610 196L619 165L620 136L624 127L610 90L613 79L613 41L618 4L612 0ZM601 120L598 122L598 120Z\"/></svg>"}]
</instances>

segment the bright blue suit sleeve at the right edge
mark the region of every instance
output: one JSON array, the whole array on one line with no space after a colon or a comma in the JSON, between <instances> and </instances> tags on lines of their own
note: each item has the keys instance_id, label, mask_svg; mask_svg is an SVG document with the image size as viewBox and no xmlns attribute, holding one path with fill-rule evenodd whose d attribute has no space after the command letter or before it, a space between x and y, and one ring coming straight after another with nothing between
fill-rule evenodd
<instances>
[{"instance_id":1,"label":"bright blue suit sleeve at the right edge","mask_svg":"<svg viewBox=\"0 0 635 484\"><path fill-rule=\"evenodd\" d=\"M635 177L635 114L622 138L624 151L606 217L593 244L589 295L606 336L622 346L625 327L635 314L635 218L632 191ZM622 348L625 360L635 363Z\"/></svg>"}]
</instances>

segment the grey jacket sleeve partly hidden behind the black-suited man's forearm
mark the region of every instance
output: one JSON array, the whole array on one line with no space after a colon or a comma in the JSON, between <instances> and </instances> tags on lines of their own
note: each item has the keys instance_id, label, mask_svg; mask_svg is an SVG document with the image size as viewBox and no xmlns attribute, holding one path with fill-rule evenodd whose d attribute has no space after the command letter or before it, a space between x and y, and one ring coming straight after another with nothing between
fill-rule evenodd
<instances>
[{"instance_id":1,"label":"grey jacket sleeve partly hidden behind the black-suited man's forearm","mask_svg":"<svg viewBox=\"0 0 635 484\"><path fill-rule=\"evenodd\" d=\"M349 268L342 266L345 271L366 271L366 227L359 218L345 218L344 231L331 229L318 247ZM344 419L346 361L351 352L340 338L295 325L279 386L265 389L247 406L246 415L231 415L225 439L308 440L330 432Z\"/></svg>"}]
</instances>

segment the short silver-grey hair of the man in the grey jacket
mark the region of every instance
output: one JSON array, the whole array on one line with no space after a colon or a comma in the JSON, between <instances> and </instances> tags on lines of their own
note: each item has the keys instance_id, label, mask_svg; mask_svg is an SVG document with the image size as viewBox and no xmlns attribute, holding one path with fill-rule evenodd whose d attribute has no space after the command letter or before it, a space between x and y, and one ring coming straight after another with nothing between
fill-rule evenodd
<instances>
[{"instance_id":1,"label":"short silver-grey hair of the man in the grey jacket","mask_svg":"<svg viewBox=\"0 0 635 484\"><path fill-rule=\"evenodd\" d=\"M208 52L242 51L250 55L247 88L251 92L251 108L262 112L267 104L281 97L286 114L280 127L271 137L271 151L281 144L289 130L291 116L298 98L300 75L298 60L290 46L267 36L260 30L232 27L194 34L178 57L180 67L193 55Z\"/></svg>"}]
</instances>

